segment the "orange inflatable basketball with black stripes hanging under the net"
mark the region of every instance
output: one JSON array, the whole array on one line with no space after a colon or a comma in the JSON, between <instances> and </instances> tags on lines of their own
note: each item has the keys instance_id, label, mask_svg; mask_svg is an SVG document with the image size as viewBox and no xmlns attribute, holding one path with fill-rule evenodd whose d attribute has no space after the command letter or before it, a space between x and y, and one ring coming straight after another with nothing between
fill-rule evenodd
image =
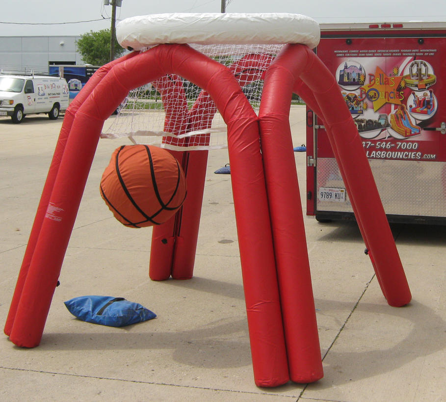
<instances>
[{"instance_id":1,"label":"orange inflatable basketball with black stripes hanging under the net","mask_svg":"<svg viewBox=\"0 0 446 402\"><path fill-rule=\"evenodd\" d=\"M123 145L113 152L100 189L114 217L139 228L164 223L176 213L186 196L186 180L165 149Z\"/></svg>"}]
</instances>

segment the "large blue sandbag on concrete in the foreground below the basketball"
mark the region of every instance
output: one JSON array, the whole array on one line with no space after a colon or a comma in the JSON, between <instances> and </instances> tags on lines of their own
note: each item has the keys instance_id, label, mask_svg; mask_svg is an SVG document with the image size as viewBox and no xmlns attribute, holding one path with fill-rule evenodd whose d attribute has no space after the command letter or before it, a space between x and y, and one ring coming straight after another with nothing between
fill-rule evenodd
<instances>
[{"instance_id":1,"label":"large blue sandbag on concrete in the foreground below the basketball","mask_svg":"<svg viewBox=\"0 0 446 402\"><path fill-rule=\"evenodd\" d=\"M107 326L126 326L157 317L141 304L124 297L79 296L64 303L79 320Z\"/></svg>"}]
</instances>

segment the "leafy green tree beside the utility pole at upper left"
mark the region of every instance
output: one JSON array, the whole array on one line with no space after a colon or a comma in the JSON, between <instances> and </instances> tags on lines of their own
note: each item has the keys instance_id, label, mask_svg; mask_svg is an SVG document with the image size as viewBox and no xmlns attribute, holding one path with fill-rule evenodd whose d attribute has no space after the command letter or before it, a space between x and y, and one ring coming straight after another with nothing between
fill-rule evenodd
<instances>
[{"instance_id":1,"label":"leafy green tree beside the utility pole at upper left","mask_svg":"<svg viewBox=\"0 0 446 402\"><path fill-rule=\"evenodd\" d=\"M90 31L80 35L76 41L78 52L84 63L102 66L110 61L110 29ZM115 57L121 56L125 49L121 48L115 38Z\"/></svg>"}]
</instances>

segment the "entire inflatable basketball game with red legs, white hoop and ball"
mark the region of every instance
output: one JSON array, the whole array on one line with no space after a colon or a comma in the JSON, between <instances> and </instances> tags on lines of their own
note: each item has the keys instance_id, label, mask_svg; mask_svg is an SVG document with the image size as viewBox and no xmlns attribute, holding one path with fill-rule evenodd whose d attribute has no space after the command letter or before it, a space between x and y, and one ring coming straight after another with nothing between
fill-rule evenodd
<instances>
[{"instance_id":1,"label":"entire inflatable basketball game with red legs, white hoop and ball","mask_svg":"<svg viewBox=\"0 0 446 402\"><path fill-rule=\"evenodd\" d=\"M301 200L289 125L293 93L324 121L387 303L400 307L411 300L361 137L335 77L312 50L320 39L318 24L289 13L155 14L121 21L117 38L132 52L96 71L66 111L5 334L20 347L39 345L104 122L129 91L151 82L165 111L161 147L176 161L139 144L116 150L114 167L107 168L102 183L109 208L127 226L153 224L152 280L190 279L212 121L219 111L227 126L255 383L275 387L289 380L317 381L323 370L303 213L297 207ZM221 57L228 45L233 46L229 60ZM223 59L227 63L219 62ZM348 79L357 76L352 71ZM200 88L190 108L184 79ZM263 90L256 113L242 87L258 80ZM194 137L199 145L189 148ZM129 190L138 173L126 172L128 193L120 188L116 167L124 157L139 161L129 166L154 166L148 178L154 193L147 199ZM158 188L162 179L155 167L165 163L172 167L174 189L169 186L166 194ZM172 215L157 221L169 208Z\"/></svg>"}]
</instances>

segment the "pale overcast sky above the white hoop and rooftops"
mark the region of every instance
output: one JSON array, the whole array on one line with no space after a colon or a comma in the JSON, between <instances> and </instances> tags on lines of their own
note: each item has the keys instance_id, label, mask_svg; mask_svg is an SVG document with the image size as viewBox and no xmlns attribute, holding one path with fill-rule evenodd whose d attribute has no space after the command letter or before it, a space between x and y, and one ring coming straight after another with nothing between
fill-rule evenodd
<instances>
[{"instance_id":1,"label":"pale overcast sky above the white hoop and rooftops","mask_svg":"<svg viewBox=\"0 0 446 402\"><path fill-rule=\"evenodd\" d=\"M308 15L318 23L446 22L446 0L231 0L229 3L227 0L227 4L227 12L291 12ZM221 0L122 0L117 18L172 12L220 12L220 8ZM104 0L3 0L0 36L80 35L109 28L110 16L111 5L104 5ZM101 21L69 24L98 19ZM57 25L52 25L55 23Z\"/></svg>"}]
</instances>

